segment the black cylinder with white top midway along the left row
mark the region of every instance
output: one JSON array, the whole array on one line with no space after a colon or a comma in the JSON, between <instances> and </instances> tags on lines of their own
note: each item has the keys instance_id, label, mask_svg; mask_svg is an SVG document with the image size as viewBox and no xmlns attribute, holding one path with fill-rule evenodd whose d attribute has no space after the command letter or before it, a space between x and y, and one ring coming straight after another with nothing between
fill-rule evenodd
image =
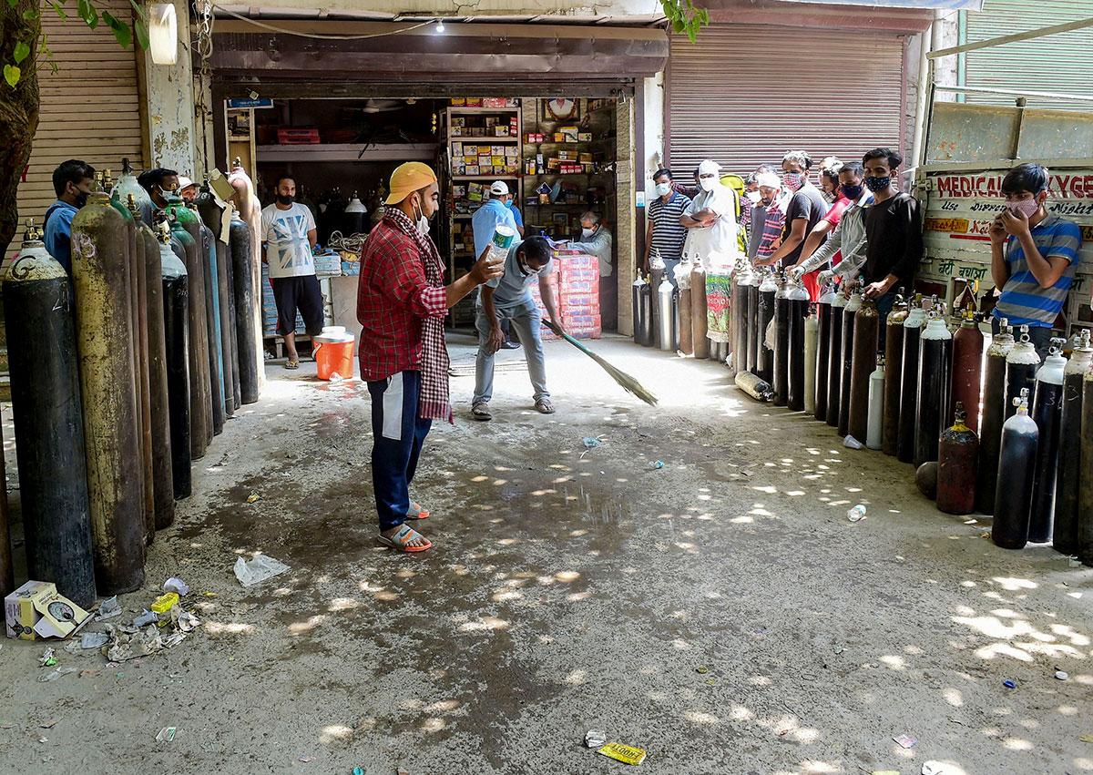
<instances>
[{"instance_id":1,"label":"black cylinder with white top midway along the left row","mask_svg":"<svg viewBox=\"0 0 1093 775\"><path fill-rule=\"evenodd\" d=\"M189 282L186 265L171 249L166 221L160 227L161 283L163 287L163 337L166 352L167 415L171 427L171 471L175 498L192 492L190 468L190 364Z\"/></svg>"}]
</instances>

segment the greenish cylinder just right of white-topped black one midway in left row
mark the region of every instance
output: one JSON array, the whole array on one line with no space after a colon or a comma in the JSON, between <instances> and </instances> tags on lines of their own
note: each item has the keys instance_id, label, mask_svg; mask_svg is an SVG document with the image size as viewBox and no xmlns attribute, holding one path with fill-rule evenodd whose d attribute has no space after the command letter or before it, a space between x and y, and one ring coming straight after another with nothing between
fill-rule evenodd
<instances>
[{"instance_id":1,"label":"greenish cylinder just right of white-topped black one midway in left row","mask_svg":"<svg viewBox=\"0 0 1093 775\"><path fill-rule=\"evenodd\" d=\"M175 199L176 201L172 201ZM209 377L209 328L205 314L204 258L200 243L193 238L186 224L197 228L193 213L180 204L181 200L168 198L167 213L172 235L186 250L187 300L189 312L189 375L190 375L190 458L200 460L212 441L212 392Z\"/></svg>"}]
</instances>

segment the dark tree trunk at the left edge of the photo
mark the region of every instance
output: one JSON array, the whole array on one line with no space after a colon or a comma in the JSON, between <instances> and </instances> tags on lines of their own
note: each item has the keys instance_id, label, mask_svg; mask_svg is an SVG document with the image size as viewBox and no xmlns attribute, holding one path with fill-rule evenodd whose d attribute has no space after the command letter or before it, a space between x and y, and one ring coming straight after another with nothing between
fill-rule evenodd
<instances>
[{"instance_id":1,"label":"dark tree trunk at the left edge of the photo","mask_svg":"<svg viewBox=\"0 0 1093 775\"><path fill-rule=\"evenodd\" d=\"M0 74L0 250L11 243L19 228L15 192L31 158L34 133L38 129L38 35L42 19L23 17L24 11L38 11L37 0L19 0L15 8L0 2L0 72L14 64L15 44L31 46L31 56L19 62L22 71L14 89ZM51 11L50 11L51 12Z\"/></svg>"}]
</instances>

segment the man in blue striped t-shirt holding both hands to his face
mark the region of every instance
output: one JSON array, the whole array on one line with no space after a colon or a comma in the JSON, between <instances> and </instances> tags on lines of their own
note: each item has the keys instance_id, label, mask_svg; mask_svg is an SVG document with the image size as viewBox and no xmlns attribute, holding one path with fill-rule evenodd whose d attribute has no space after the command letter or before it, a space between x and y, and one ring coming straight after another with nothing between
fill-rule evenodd
<instances>
[{"instance_id":1,"label":"man in blue striped t-shirt holding both hands to his face","mask_svg":"<svg viewBox=\"0 0 1093 775\"><path fill-rule=\"evenodd\" d=\"M1047 355L1051 327L1062 312L1078 269L1082 230L1045 207L1047 169L1022 164L1002 180L1006 209L990 227L990 274L1002 295L992 326L1008 318L1027 326L1041 359Z\"/></svg>"}]
</instances>

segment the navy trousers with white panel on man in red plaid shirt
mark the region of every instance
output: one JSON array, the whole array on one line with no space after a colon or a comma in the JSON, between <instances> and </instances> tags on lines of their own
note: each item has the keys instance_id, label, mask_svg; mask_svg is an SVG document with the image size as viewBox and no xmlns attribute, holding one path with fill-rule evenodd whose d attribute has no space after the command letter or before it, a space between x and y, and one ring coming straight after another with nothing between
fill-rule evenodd
<instances>
[{"instance_id":1,"label":"navy trousers with white panel on man in red plaid shirt","mask_svg":"<svg viewBox=\"0 0 1093 775\"><path fill-rule=\"evenodd\" d=\"M421 372L368 383L372 395L372 489L379 529L398 527L410 510L410 482L433 425L418 416Z\"/></svg>"}]
</instances>

